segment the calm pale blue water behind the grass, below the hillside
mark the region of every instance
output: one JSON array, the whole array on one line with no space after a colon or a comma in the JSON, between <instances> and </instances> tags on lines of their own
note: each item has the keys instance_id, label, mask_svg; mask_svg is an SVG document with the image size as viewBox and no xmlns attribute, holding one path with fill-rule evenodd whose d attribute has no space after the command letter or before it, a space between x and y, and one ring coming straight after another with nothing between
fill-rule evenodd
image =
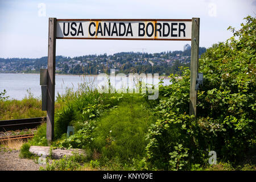
<instances>
[{"instance_id":1,"label":"calm pale blue water behind the grass, below the hillside","mask_svg":"<svg viewBox=\"0 0 256 182\"><path fill-rule=\"evenodd\" d=\"M114 80L113 80L114 79ZM110 78L110 82L115 85L115 89L131 88L132 81L129 81L129 77ZM144 81L144 80L143 80ZM79 75L56 75L55 76L55 97L57 93L65 93L66 88L73 88L77 90L79 84L86 83L90 87L102 88L104 84L108 83L106 77L97 76L79 76ZM134 79L133 79L134 82ZM148 84L158 84L159 79L152 78L145 80ZM170 80L165 78L163 80L164 85L170 84ZM31 73L0 73L0 92L6 90L6 95L9 99L22 100L25 96L28 96L28 92L31 92L34 97L41 97L40 75Z\"/></svg>"}]
</instances>

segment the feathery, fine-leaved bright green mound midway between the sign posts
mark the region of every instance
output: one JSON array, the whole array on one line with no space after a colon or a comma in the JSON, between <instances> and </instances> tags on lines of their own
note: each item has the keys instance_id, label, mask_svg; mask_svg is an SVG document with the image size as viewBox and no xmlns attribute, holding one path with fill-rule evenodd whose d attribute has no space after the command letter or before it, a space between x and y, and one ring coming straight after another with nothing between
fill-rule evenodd
<instances>
[{"instance_id":1,"label":"feathery, fine-leaved bright green mound midway between the sign posts","mask_svg":"<svg viewBox=\"0 0 256 182\"><path fill-rule=\"evenodd\" d=\"M143 98L129 95L99 119L92 133L92 150L95 148L109 159L118 157L121 162L131 163L133 158L144 155L145 135L153 122L154 117Z\"/></svg>"}]
</instances>

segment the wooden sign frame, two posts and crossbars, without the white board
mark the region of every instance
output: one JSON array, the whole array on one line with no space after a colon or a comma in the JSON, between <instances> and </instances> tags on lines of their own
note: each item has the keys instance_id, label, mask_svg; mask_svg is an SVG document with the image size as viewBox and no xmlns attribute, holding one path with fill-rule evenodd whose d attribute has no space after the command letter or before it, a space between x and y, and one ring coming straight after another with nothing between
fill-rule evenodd
<instances>
[{"instance_id":1,"label":"wooden sign frame, two posts and crossbars, without the white board","mask_svg":"<svg viewBox=\"0 0 256 182\"><path fill-rule=\"evenodd\" d=\"M157 39L157 38L60 38L56 37L58 21L144 21L144 22L192 22L191 39ZM47 141L50 145L54 138L54 112L55 112L55 57L56 57L56 39L105 39L105 40L182 40L191 41L191 81L189 93L189 114L196 115L196 78L199 67L199 29L200 18L192 19L56 19L49 18L48 27L48 67L47 67Z\"/></svg>"}]
</instances>

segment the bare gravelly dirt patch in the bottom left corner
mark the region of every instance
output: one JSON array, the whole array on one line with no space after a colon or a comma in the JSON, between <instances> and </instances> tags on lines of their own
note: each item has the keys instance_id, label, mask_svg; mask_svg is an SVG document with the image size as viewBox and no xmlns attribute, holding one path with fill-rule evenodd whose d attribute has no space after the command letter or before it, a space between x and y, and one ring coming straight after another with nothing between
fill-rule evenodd
<instances>
[{"instance_id":1,"label":"bare gravelly dirt patch in the bottom left corner","mask_svg":"<svg viewBox=\"0 0 256 182\"><path fill-rule=\"evenodd\" d=\"M18 150L0 150L0 171L38 171L40 166L46 167L32 159L20 159Z\"/></svg>"}]
</instances>

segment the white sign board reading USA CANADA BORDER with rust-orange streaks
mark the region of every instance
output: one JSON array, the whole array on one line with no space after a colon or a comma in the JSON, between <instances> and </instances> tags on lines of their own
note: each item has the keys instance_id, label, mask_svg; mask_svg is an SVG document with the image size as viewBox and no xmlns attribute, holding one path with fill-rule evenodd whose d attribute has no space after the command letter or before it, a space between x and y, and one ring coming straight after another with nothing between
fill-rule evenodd
<instances>
[{"instance_id":1,"label":"white sign board reading USA CANADA BORDER with rust-orange streaks","mask_svg":"<svg viewBox=\"0 0 256 182\"><path fill-rule=\"evenodd\" d=\"M191 40L191 19L57 19L56 39Z\"/></svg>"}]
</instances>

